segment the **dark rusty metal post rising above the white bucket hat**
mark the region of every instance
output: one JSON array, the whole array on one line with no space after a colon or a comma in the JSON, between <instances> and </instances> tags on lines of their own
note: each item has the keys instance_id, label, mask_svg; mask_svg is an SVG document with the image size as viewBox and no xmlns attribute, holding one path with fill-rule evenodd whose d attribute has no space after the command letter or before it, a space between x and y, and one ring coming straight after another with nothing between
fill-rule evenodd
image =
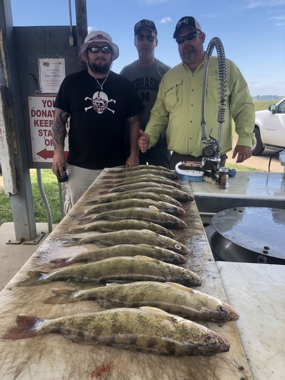
<instances>
[{"instance_id":1,"label":"dark rusty metal post rising above the white bucket hat","mask_svg":"<svg viewBox=\"0 0 285 380\"><path fill-rule=\"evenodd\" d=\"M88 34L87 28L87 7L86 0L75 0L75 14L76 14L76 31L77 31L77 47L78 51L80 46L84 43L85 37ZM87 68L86 64L78 59L79 71Z\"/></svg>"}]
</instances>

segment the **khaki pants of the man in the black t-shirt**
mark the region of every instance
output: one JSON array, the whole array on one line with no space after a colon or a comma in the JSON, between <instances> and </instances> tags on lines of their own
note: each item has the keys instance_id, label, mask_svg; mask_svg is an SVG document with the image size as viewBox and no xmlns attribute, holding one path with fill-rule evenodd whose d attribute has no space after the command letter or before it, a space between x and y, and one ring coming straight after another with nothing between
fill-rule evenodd
<instances>
[{"instance_id":1,"label":"khaki pants of the man in the black t-shirt","mask_svg":"<svg viewBox=\"0 0 285 380\"><path fill-rule=\"evenodd\" d=\"M125 165L115 166L124 168ZM104 169L84 169L67 165L68 180L65 182L64 212L68 213Z\"/></svg>"}]
</instances>

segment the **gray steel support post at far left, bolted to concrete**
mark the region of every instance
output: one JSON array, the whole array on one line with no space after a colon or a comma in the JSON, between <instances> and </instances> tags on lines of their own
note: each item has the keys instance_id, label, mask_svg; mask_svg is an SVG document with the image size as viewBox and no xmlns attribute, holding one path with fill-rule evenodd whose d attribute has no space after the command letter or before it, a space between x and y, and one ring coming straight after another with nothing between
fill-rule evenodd
<instances>
[{"instance_id":1,"label":"gray steel support post at far left, bolted to concrete","mask_svg":"<svg viewBox=\"0 0 285 380\"><path fill-rule=\"evenodd\" d=\"M0 59L0 85L9 89L13 114L11 125L15 128L13 146L18 192L11 196L11 204L15 239L21 242L34 239L36 223L10 0L0 2Z\"/></svg>"}]
</instances>

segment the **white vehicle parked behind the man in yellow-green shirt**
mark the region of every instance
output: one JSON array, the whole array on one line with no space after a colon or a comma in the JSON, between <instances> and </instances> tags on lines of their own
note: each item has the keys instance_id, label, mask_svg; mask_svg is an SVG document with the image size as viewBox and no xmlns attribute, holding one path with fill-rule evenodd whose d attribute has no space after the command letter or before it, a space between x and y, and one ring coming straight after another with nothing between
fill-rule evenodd
<instances>
[{"instance_id":1,"label":"white vehicle parked behind the man in yellow-green shirt","mask_svg":"<svg viewBox=\"0 0 285 380\"><path fill-rule=\"evenodd\" d=\"M255 142L252 155L261 154L265 147L285 148L285 98L279 103L271 104L268 110L255 112Z\"/></svg>"}]
</instances>

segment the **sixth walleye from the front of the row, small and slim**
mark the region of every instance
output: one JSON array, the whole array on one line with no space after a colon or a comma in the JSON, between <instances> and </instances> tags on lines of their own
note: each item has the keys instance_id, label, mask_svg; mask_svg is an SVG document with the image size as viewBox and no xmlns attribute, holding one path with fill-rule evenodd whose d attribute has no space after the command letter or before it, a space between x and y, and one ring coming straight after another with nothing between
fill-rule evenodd
<instances>
[{"instance_id":1,"label":"sixth walleye from the front of the row, small and slim","mask_svg":"<svg viewBox=\"0 0 285 380\"><path fill-rule=\"evenodd\" d=\"M111 232L111 231L121 231L121 230L150 230L160 235L174 237L173 233L167 230L167 228L164 228L152 222L144 222L143 220L135 220L135 219L123 219L123 220L118 220L117 222L94 223L87 227L79 227L79 228L70 229L68 230L68 233L78 234L81 232L88 232L88 231Z\"/></svg>"}]
</instances>

